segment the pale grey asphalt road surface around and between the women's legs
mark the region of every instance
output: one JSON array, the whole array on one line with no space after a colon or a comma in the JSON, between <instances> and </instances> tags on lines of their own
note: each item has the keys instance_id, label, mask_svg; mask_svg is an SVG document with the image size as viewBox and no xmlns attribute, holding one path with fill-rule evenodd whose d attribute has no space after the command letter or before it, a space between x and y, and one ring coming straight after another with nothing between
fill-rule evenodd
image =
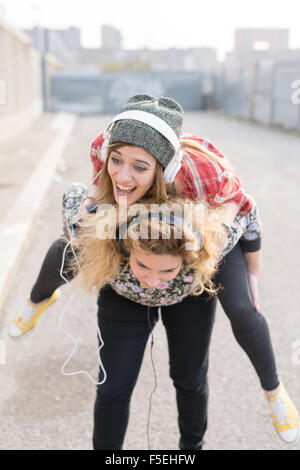
<instances>
[{"instance_id":1,"label":"pale grey asphalt road surface around and between the women's legs","mask_svg":"<svg viewBox=\"0 0 300 470\"><path fill-rule=\"evenodd\" d=\"M84 375L64 377L60 372L73 348L58 328L71 287L64 287L60 300L26 341L11 341L7 328L30 291L46 249L60 234L64 187L70 181L89 180L89 146L105 122L103 116L78 119L64 152L64 165L56 173L44 215L0 318L0 344L6 349L6 364L0 364L1 449L91 449L95 387ZM272 332L280 375L300 409L300 354L292 349L295 341L300 341L300 139L214 113L188 113L185 128L210 138L227 154L261 209L261 304ZM87 306L95 316L95 299L89 299ZM96 330L80 299L69 307L63 324L80 339L67 371L87 369L96 378ZM158 389L152 401L151 448L177 449L175 393L168 377L161 323L154 337ZM299 360L292 361L293 352ZM148 405L154 385L149 353L147 349L133 395L124 449L147 449ZM275 434L257 377L220 307L211 344L210 390L206 449L299 449L299 445L286 446Z\"/></svg>"}]
</instances>

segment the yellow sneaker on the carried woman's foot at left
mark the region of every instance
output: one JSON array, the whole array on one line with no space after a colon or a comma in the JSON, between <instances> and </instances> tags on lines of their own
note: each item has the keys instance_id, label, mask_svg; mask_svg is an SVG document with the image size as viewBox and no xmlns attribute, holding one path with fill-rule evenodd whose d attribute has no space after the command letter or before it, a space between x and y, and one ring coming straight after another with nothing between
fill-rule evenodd
<instances>
[{"instance_id":1,"label":"yellow sneaker on the carried woman's foot at left","mask_svg":"<svg viewBox=\"0 0 300 470\"><path fill-rule=\"evenodd\" d=\"M9 336L13 339L24 338L24 336L34 328L42 313L57 300L58 296L59 289L56 289L44 304L34 304L28 299L23 310L20 311L11 323L8 330Z\"/></svg>"}]
</instances>

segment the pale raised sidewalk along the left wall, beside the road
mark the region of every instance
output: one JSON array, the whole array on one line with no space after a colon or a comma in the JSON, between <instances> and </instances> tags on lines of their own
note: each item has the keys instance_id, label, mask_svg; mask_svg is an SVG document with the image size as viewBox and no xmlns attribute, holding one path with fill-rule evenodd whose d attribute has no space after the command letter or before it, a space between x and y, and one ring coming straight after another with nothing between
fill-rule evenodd
<instances>
[{"instance_id":1,"label":"pale raised sidewalk along the left wall, beside the road","mask_svg":"<svg viewBox=\"0 0 300 470\"><path fill-rule=\"evenodd\" d=\"M31 242L77 117L46 114L0 146L0 312Z\"/></svg>"}]
</instances>

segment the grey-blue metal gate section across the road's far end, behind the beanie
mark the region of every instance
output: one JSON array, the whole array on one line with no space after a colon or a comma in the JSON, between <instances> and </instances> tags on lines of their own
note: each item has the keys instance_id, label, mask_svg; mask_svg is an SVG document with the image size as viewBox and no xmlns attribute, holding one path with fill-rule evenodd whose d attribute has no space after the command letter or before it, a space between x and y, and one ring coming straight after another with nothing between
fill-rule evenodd
<instances>
[{"instance_id":1,"label":"grey-blue metal gate section across the road's far end, behind the beanie","mask_svg":"<svg viewBox=\"0 0 300 470\"><path fill-rule=\"evenodd\" d=\"M139 93L169 96L185 110L199 110L202 83L199 72L60 72L51 77L49 110L110 114Z\"/></svg>"}]
</instances>

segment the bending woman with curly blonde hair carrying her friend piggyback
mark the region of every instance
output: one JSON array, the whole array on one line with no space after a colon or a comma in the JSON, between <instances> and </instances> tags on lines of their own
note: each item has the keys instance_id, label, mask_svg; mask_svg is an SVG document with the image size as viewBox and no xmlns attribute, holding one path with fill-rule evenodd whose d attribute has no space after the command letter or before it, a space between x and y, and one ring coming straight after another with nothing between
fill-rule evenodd
<instances>
[{"instance_id":1,"label":"bending woman with curly blonde hair carrying her friend piggyback","mask_svg":"<svg viewBox=\"0 0 300 470\"><path fill-rule=\"evenodd\" d=\"M72 266L85 290L100 291L107 378L97 391L94 449L122 448L131 394L159 310L177 394L179 445L201 449L215 297L206 303L218 288L213 276L226 237L224 211L176 197L160 205L147 199L131 205L120 223L120 206L103 207L80 224ZM103 378L101 370L99 382Z\"/></svg>"}]
</instances>

